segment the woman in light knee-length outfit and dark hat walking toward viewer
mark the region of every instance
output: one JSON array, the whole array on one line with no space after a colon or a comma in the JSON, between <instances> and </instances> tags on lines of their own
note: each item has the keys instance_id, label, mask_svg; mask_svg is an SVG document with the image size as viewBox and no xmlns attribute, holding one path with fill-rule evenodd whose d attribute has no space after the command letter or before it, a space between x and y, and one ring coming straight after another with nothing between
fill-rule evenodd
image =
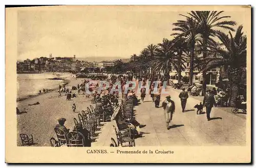
<instances>
[{"instance_id":1,"label":"woman in light knee-length outfit and dark hat walking toward viewer","mask_svg":"<svg viewBox=\"0 0 256 168\"><path fill-rule=\"evenodd\" d=\"M167 129L170 128L169 123L173 120L173 114L175 111L175 103L173 100L170 100L170 96L166 96L166 99L162 103L164 109L164 116Z\"/></svg>"}]
</instances>

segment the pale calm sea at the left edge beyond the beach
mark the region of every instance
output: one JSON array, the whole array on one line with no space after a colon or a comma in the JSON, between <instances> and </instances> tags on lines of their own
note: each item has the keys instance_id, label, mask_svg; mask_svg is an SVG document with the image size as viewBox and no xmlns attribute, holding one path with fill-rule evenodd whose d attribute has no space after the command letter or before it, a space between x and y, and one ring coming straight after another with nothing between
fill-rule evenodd
<instances>
[{"instance_id":1,"label":"pale calm sea at the left edge beyond the beach","mask_svg":"<svg viewBox=\"0 0 256 168\"><path fill-rule=\"evenodd\" d=\"M17 98L25 98L37 95L39 90L56 89L62 85L64 80L50 80L48 78L72 78L71 73L34 73L17 74Z\"/></svg>"}]
</instances>

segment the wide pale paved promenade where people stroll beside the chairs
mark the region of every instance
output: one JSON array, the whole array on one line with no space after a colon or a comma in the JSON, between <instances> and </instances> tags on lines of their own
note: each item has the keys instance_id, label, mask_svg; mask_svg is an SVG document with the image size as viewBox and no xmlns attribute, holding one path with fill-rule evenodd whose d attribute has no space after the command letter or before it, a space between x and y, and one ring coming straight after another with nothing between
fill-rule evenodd
<instances>
[{"instance_id":1,"label":"wide pale paved promenade where people stroll beside the chairs","mask_svg":"<svg viewBox=\"0 0 256 168\"><path fill-rule=\"evenodd\" d=\"M181 90L168 87L168 92L176 105L172 121L174 126L169 130L166 129L163 109L155 108L150 96L146 95L145 102L135 107L137 121L146 124L146 127L141 128L141 131L145 132L144 137L136 139L136 146L241 146L246 144L244 117L213 107L210 116L212 120L207 121L206 114L196 114L194 106L200 103L200 100L193 97L188 98L187 111L182 113L178 98ZM161 100L164 100L165 96L161 95ZM203 112L205 113L205 108ZM111 137L116 140L112 125L115 125L115 121L104 125L99 138L92 144L93 147L109 146Z\"/></svg>"}]
</instances>

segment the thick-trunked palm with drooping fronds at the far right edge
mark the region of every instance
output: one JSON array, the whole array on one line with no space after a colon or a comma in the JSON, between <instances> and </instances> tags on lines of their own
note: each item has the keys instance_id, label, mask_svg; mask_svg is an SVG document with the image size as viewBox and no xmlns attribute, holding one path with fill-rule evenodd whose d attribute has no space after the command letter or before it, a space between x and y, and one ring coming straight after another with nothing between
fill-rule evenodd
<instances>
[{"instance_id":1,"label":"thick-trunked palm with drooping fronds at the far right edge","mask_svg":"<svg viewBox=\"0 0 256 168\"><path fill-rule=\"evenodd\" d=\"M246 37L243 38L243 26L240 25L236 35L233 37L217 31L217 37L224 44L225 49L209 46L210 52L217 53L215 56L202 60L202 71L223 66L231 82L229 104L235 105L238 96L238 86L242 81L242 76L246 74Z\"/></svg>"}]
</instances>

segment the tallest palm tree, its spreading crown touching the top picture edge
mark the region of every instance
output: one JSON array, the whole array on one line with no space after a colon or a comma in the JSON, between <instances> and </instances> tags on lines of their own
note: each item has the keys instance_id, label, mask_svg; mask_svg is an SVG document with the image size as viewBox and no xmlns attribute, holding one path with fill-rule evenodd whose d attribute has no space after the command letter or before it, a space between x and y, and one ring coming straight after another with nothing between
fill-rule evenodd
<instances>
[{"instance_id":1,"label":"tallest palm tree, its spreading crown touching the top picture edge","mask_svg":"<svg viewBox=\"0 0 256 168\"><path fill-rule=\"evenodd\" d=\"M197 30L201 36L201 45L203 51L203 58L207 57L207 45L215 45L212 37L216 36L217 28L223 28L229 31L234 31L231 27L236 25L235 21L221 21L224 18L230 18L230 16L220 16L224 11L191 11L188 13L187 18L192 17L198 24ZM206 92L206 71L203 71L203 95Z\"/></svg>"}]
</instances>

